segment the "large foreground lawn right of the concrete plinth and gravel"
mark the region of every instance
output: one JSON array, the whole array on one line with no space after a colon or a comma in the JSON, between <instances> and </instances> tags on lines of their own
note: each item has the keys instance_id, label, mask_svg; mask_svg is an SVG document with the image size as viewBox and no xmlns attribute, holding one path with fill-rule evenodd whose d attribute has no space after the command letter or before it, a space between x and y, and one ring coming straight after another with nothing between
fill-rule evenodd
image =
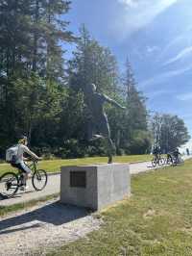
<instances>
[{"instance_id":1,"label":"large foreground lawn right of the concrete plinth and gravel","mask_svg":"<svg viewBox=\"0 0 192 256\"><path fill-rule=\"evenodd\" d=\"M132 196L96 213L100 230L48 255L192 255L192 160L132 177Z\"/></svg>"}]
</instances>

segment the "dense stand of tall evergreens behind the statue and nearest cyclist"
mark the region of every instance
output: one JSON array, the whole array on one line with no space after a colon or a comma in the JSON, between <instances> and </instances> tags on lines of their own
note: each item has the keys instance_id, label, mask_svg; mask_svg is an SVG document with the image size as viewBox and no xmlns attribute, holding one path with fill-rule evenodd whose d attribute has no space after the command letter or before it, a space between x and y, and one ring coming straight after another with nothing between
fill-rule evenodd
<instances>
[{"instance_id":1,"label":"dense stand of tall evergreens behind the statue and nearest cyclist","mask_svg":"<svg viewBox=\"0 0 192 256\"><path fill-rule=\"evenodd\" d=\"M95 83L127 111L107 105L117 153L151 148L145 98L129 62L122 82L115 57L84 26L67 30L64 0L0 0L0 157L26 134L39 154L61 158L105 155L102 141L87 142L87 94ZM70 60L65 43L76 43Z\"/></svg>"}]
</instances>

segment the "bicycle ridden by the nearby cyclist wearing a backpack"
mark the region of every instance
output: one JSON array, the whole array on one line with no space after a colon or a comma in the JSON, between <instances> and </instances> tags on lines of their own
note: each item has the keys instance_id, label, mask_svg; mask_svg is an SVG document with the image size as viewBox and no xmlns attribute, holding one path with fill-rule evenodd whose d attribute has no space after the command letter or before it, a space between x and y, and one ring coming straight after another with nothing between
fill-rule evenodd
<instances>
[{"instance_id":1,"label":"bicycle ridden by the nearby cyclist wearing a backpack","mask_svg":"<svg viewBox=\"0 0 192 256\"><path fill-rule=\"evenodd\" d=\"M44 169L37 169L37 161L31 160L29 167L33 171L32 185L36 191L42 191L47 185L47 172ZM18 172L6 172L0 177L0 196L11 198L20 187L23 186L23 173L20 169Z\"/></svg>"}]
</instances>

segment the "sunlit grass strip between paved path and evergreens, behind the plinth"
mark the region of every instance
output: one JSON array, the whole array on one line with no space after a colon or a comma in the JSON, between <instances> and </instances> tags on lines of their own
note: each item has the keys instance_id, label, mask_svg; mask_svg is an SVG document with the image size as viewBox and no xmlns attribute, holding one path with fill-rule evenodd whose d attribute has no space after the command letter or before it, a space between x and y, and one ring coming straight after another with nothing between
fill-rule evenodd
<instances>
[{"instance_id":1,"label":"sunlit grass strip between paved path and evergreens, behind the plinth","mask_svg":"<svg viewBox=\"0 0 192 256\"><path fill-rule=\"evenodd\" d=\"M137 161L148 161L151 160L151 155L132 155L132 156L121 156L114 157L114 162L119 163L130 163ZM73 165L90 165L90 164L101 164L108 163L107 157L94 157L94 158L81 158L81 159L68 159L68 160L50 160L50 161L41 161L38 163L39 168L43 168L47 171L60 171L60 166L73 166ZM1 164L0 165L0 174L14 170L11 165Z\"/></svg>"}]
</instances>

